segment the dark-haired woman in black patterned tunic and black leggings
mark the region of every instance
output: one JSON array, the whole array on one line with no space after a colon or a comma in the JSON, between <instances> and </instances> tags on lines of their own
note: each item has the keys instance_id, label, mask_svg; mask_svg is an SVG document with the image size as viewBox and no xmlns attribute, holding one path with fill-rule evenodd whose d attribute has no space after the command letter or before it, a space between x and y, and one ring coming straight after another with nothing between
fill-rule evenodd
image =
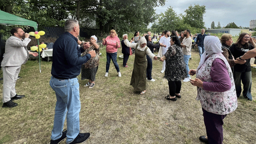
<instances>
[{"instance_id":1,"label":"dark-haired woman in black patterned tunic and black leggings","mask_svg":"<svg viewBox=\"0 0 256 144\"><path fill-rule=\"evenodd\" d=\"M160 61L166 60L165 76L168 80L169 95L165 98L167 100L176 101L177 98L181 98L181 80L186 78L185 62L183 60L183 53L181 48L181 42L177 36L171 37L171 46Z\"/></svg>"}]
</instances>

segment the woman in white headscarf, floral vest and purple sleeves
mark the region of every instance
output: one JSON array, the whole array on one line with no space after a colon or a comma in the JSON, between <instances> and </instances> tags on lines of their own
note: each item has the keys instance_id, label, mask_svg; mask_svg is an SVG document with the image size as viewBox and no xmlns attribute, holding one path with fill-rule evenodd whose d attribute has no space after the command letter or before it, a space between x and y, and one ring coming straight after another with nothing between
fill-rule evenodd
<instances>
[{"instance_id":1,"label":"woman in white headscarf, floral vest and purple sleeves","mask_svg":"<svg viewBox=\"0 0 256 144\"><path fill-rule=\"evenodd\" d=\"M207 133L199 139L209 144L222 144L223 119L238 106L234 78L227 59L221 54L219 39L205 37L204 47L197 70L189 71L190 75L196 74L190 83L197 86L196 100L200 100Z\"/></svg>"}]
</instances>

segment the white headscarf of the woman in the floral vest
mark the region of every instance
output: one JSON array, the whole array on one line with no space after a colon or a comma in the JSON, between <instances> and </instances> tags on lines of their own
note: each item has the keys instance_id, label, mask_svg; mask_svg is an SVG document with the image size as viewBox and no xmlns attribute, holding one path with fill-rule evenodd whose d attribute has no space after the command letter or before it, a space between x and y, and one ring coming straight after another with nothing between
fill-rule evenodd
<instances>
[{"instance_id":1,"label":"white headscarf of the woman in the floral vest","mask_svg":"<svg viewBox=\"0 0 256 144\"><path fill-rule=\"evenodd\" d=\"M218 37L215 37L215 36L204 37L203 45L204 45L205 51L201 56L198 68L200 68L205 62L205 60L209 58L212 54L220 54L223 52L221 50L221 41L219 41Z\"/></svg>"}]
</instances>

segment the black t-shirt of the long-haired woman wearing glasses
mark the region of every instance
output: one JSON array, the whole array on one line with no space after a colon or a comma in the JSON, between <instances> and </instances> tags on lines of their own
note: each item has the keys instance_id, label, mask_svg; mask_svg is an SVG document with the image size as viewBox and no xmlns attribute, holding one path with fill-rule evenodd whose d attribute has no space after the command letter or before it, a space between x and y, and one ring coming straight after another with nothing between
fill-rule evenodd
<instances>
[{"instance_id":1,"label":"black t-shirt of the long-haired woman wearing glasses","mask_svg":"<svg viewBox=\"0 0 256 144\"><path fill-rule=\"evenodd\" d=\"M236 44L232 44L230 47L230 52L234 56L234 59L244 55L246 52L249 50L253 49L253 45L249 44L248 47L246 45L242 45L242 48L237 47ZM236 64L234 66L234 71L237 72L249 72L251 71L251 63L250 63L251 58L246 59L246 62L244 64Z\"/></svg>"}]
</instances>

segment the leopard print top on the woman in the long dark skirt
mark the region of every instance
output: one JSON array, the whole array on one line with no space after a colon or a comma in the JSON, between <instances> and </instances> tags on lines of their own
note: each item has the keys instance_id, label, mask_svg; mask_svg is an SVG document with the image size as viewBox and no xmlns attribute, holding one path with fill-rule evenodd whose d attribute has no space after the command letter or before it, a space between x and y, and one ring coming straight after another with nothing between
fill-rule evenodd
<instances>
[{"instance_id":1,"label":"leopard print top on the woman in the long dark skirt","mask_svg":"<svg viewBox=\"0 0 256 144\"><path fill-rule=\"evenodd\" d=\"M95 46L92 45L83 52L82 56L85 56L91 50L95 50L96 56L94 58L90 58L86 63L82 65L86 69L96 68L99 66L100 63L100 47L96 49Z\"/></svg>"}]
</instances>

